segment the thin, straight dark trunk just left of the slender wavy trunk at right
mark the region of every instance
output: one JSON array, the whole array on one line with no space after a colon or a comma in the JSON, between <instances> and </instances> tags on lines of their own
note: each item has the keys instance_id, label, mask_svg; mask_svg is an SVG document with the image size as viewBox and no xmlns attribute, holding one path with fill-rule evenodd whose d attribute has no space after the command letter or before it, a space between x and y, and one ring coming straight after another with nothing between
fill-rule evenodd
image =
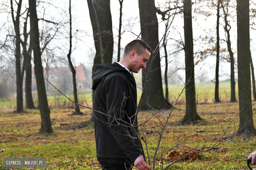
<instances>
[{"instance_id":1,"label":"thin, straight dark trunk just left of the slender wavy trunk at right","mask_svg":"<svg viewBox=\"0 0 256 170\"><path fill-rule=\"evenodd\" d=\"M219 36L219 25L220 25L220 3L218 0L217 6L217 56L216 56L216 70L215 70L215 103L220 103L219 99L219 62L220 62L220 36Z\"/></svg>"}]
</instances>

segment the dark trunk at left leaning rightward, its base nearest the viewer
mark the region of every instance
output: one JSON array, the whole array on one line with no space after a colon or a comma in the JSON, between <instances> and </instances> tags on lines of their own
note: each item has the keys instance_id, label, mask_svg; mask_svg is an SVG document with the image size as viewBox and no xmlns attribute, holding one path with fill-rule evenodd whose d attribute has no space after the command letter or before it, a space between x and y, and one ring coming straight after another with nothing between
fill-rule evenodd
<instances>
[{"instance_id":1,"label":"dark trunk at left leaning rightward, its base nearest the viewer","mask_svg":"<svg viewBox=\"0 0 256 170\"><path fill-rule=\"evenodd\" d=\"M39 109L41 114L40 132L53 132L50 110L44 82L44 71L41 59L41 49L39 43L38 18L36 13L36 0L29 0L30 9L30 38L32 39L32 50L34 55L34 72L36 77L36 87L38 93Z\"/></svg>"}]
</instances>

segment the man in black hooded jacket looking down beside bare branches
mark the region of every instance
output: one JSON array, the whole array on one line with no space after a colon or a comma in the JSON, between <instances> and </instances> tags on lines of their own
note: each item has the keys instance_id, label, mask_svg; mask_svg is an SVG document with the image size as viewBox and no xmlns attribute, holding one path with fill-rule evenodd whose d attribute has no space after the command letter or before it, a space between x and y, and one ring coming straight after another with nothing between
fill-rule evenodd
<instances>
[{"instance_id":1,"label":"man in black hooded jacket looking down beside bare branches","mask_svg":"<svg viewBox=\"0 0 256 170\"><path fill-rule=\"evenodd\" d=\"M131 128L137 109L136 82L130 72L146 68L151 48L142 40L129 42L121 60L113 64L96 64L92 79L96 157L106 170L149 170L143 160L139 141ZM117 120L118 119L118 120ZM120 121L123 120L123 121ZM138 133L138 128L136 128Z\"/></svg>"}]
</instances>

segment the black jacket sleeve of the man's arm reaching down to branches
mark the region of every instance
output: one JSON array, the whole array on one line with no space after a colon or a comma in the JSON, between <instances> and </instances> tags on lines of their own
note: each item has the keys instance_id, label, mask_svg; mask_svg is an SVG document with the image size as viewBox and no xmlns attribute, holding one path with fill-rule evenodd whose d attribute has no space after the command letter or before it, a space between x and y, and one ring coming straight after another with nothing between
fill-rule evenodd
<instances>
[{"instance_id":1,"label":"black jacket sleeve of the man's arm reaching down to branches","mask_svg":"<svg viewBox=\"0 0 256 170\"><path fill-rule=\"evenodd\" d=\"M135 144L134 140L131 139L125 123L115 119L117 118L124 120L126 114L125 106L129 97L129 93L125 77L122 74L106 77L103 86L104 87L102 89L106 94L106 105L107 114L109 115L108 123L110 131L119 146L122 148L125 155L132 162L134 162L137 157L142 155L142 152L139 146Z\"/></svg>"}]
</instances>

